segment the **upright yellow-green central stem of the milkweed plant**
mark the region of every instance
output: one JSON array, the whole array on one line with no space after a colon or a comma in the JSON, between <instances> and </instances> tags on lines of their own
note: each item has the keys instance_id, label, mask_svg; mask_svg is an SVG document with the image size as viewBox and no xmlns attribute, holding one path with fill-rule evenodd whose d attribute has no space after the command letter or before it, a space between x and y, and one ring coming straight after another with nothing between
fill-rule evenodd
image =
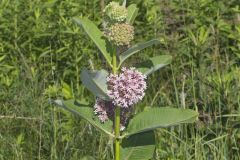
<instances>
[{"instance_id":1,"label":"upright yellow-green central stem of the milkweed plant","mask_svg":"<svg viewBox=\"0 0 240 160\"><path fill-rule=\"evenodd\" d=\"M113 53L113 74L117 74L117 53L116 48ZM115 133L115 160L120 160L120 107L116 106L115 110L115 125L114 125L114 133Z\"/></svg>"}]
</instances>

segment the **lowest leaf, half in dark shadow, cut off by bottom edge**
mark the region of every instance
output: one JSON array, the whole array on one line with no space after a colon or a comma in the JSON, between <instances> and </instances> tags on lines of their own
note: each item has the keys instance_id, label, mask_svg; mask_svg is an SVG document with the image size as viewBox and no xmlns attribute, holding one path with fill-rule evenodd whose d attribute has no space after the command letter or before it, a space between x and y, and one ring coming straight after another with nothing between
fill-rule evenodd
<instances>
[{"instance_id":1,"label":"lowest leaf, half in dark shadow, cut off by bottom edge","mask_svg":"<svg viewBox=\"0 0 240 160\"><path fill-rule=\"evenodd\" d=\"M124 138L121 144L121 160L148 160L155 150L154 132L145 132Z\"/></svg>"}]
</instances>

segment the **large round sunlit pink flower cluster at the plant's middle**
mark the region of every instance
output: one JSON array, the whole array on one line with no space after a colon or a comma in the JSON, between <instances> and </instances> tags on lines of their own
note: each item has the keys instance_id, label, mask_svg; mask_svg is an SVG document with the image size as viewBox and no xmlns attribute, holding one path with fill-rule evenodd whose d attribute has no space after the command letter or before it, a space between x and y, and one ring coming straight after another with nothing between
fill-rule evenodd
<instances>
[{"instance_id":1,"label":"large round sunlit pink flower cluster at the plant's middle","mask_svg":"<svg viewBox=\"0 0 240 160\"><path fill-rule=\"evenodd\" d=\"M128 108L142 100L147 88L146 76L135 68L121 69L119 75L110 74L107 78L108 96L113 104Z\"/></svg>"}]
</instances>

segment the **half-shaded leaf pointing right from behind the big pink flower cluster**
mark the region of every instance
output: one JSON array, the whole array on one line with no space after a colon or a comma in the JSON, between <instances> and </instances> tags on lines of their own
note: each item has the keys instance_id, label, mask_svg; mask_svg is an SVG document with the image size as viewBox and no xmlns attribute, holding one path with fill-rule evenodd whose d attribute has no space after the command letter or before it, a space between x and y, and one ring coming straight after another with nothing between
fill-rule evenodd
<instances>
[{"instance_id":1,"label":"half-shaded leaf pointing right from behind the big pink flower cluster","mask_svg":"<svg viewBox=\"0 0 240 160\"><path fill-rule=\"evenodd\" d=\"M148 60L139 63L136 65L138 71L144 73L145 75L149 75L160 68L170 64L172 61L172 56L170 55L161 55L149 58Z\"/></svg>"}]
</instances>

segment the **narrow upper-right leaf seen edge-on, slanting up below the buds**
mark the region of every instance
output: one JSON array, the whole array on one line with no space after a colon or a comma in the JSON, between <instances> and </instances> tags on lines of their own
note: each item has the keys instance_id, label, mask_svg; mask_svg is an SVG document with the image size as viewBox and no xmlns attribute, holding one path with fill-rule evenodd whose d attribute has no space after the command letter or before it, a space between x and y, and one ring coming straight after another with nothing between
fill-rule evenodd
<instances>
[{"instance_id":1,"label":"narrow upper-right leaf seen edge-on, slanting up below the buds","mask_svg":"<svg viewBox=\"0 0 240 160\"><path fill-rule=\"evenodd\" d=\"M119 59L120 59L120 64L119 66L127 59L129 58L130 56L132 56L133 54L151 46L151 45L154 45L154 44L159 44L160 41L157 40L157 39L153 39L153 40L150 40L150 41L147 41L147 42L143 42L143 43L139 43L139 44L136 44L135 46L129 48L127 51L123 52L120 56L119 56Z\"/></svg>"}]
</instances>

